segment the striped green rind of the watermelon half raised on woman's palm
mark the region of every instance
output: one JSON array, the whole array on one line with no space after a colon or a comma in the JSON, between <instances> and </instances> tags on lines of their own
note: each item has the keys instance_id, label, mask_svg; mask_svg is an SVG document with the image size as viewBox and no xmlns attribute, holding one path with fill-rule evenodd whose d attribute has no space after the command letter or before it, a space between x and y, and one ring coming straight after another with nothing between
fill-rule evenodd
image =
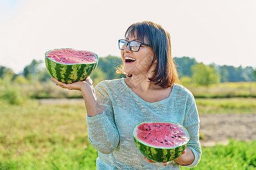
<instances>
[{"instance_id":1,"label":"striped green rind of the watermelon half raised on woman's palm","mask_svg":"<svg viewBox=\"0 0 256 170\"><path fill-rule=\"evenodd\" d=\"M60 48L60 49L72 49L72 48ZM46 52L45 54L45 62L46 68L49 74L63 83L75 83L88 78L88 76L92 75L93 71L96 69L98 65L98 56L96 53L90 52L94 54L94 57L97 59L96 62L91 63L59 63L47 57L49 52L53 50L59 49L52 49ZM73 49L76 50L76 49ZM89 52L87 50L80 50Z\"/></svg>"}]
</instances>

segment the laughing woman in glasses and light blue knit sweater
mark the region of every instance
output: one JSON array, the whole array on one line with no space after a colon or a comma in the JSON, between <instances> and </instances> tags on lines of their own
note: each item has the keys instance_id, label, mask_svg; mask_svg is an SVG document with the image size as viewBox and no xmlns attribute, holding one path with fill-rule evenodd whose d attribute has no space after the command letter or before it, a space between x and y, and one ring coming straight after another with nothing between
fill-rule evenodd
<instances>
[{"instance_id":1,"label":"laughing woman in glasses and light blue knit sweater","mask_svg":"<svg viewBox=\"0 0 256 170\"><path fill-rule=\"evenodd\" d=\"M199 114L195 99L177 84L170 35L152 22L131 25L119 40L123 61L119 73L127 78L105 80L94 88L90 78L60 87L80 90L84 97L88 138L98 150L97 169L179 169L199 163ZM183 154L172 162L143 158L135 146L133 128L142 121L170 121L183 125L190 139Z\"/></svg>"}]
</instances>

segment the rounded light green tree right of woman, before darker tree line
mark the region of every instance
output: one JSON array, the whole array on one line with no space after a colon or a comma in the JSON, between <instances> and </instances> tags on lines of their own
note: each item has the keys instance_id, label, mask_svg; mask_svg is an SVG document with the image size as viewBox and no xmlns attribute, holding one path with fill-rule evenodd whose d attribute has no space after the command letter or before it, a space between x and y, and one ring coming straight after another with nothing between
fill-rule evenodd
<instances>
[{"instance_id":1,"label":"rounded light green tree right of woman, before darker tree line","mask_svg":"<svg viewBox=\"0 0 256 170\"><path fill-rule=\"evenodd\" d=\"M208 86L209 84L218 83L219 74L213 67L204 65L203 62L193 65L192 81L199 85Z\"/></svg>"}]
</instances>

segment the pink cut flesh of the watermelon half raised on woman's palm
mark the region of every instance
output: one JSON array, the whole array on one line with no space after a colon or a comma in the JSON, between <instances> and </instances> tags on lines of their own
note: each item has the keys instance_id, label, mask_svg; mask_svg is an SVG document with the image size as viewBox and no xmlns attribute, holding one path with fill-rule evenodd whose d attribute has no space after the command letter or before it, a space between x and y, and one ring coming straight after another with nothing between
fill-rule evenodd
<instances>
[{"instance_id":1,"label":"pink cut flesh of the watermelon half raised on woman's palm","mask_svg":"<svg viewBox=\"0 0 256 170\"><path fill-rule=\"evenodd\" d=\"M84 50L56 49L47 53L47 57L53 61L64 64L97 62L94 53Z\"/></svg>"}]
</instances>

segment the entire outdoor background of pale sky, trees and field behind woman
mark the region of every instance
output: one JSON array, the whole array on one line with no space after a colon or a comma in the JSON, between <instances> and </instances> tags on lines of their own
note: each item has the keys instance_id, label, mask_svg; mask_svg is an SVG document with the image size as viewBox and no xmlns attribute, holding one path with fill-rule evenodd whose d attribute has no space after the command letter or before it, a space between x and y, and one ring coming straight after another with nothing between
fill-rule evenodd
<instances>
[{"instance_id":1,"label":"entire outdoor background of pale sky, trees and field behind woman","mask_svg":"<svg viewBox=\"0 0 256 170\"><path fill-rule=\"evenodd\" d=\"M150 20L171 35L200 114L194 169L256 167L256 1L0 0L0 169L96 169L78 91L50 80L44 53L95 52L93 85L121 78L118 39ZM181 168L186 169L186 168Z\"/></svg>"}]
</instances>

